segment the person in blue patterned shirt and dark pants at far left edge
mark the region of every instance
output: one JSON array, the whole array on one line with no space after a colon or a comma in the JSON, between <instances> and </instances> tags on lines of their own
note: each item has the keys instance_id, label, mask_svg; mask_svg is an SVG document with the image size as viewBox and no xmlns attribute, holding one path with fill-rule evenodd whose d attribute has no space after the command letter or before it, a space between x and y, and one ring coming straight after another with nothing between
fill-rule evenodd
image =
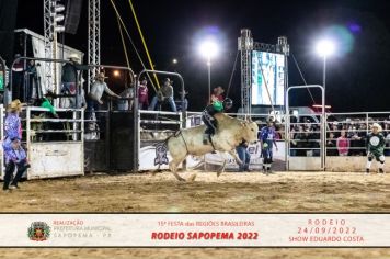
<instances>
[{"instance_id":1,"label":"person in blue patterned shirt and dark pants at far left edge","mask_svg":"<svg viewBox=\"0 0 390 259\"><path fill-rule=\"evenodd\" d=\"M22 140L22 124L19 113L22 111L24 103L21 103L19 99L12 101L8 106L8 115L4 122L4 142L3 149L5 156L5 174L3 190L8 191L10 189L19 189L18 182L30 167L26 154L23 147L21 146ZM15 178L11 178L13 171L18 168Z\"/></svg>"}]
</instances>

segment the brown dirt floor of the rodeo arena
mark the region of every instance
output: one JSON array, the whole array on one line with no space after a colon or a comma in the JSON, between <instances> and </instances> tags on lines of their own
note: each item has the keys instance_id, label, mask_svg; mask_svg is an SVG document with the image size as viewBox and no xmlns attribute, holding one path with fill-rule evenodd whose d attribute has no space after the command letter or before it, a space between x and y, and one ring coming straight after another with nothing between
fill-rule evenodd
<instances>
[{"instance_id":1,"label":"brown dirt floor of the rodeo arena","mask_svg":"<svg viewBox=\"0 0 390 259\"><path fill-rule=\"evenodd\" d=\"M188 178L194 172L182 173ZM169 172L32 180L1 212L390 212L390 174ZM390 249L0 249L0 258L390 258Z\"/></svg>"}]
</instances>

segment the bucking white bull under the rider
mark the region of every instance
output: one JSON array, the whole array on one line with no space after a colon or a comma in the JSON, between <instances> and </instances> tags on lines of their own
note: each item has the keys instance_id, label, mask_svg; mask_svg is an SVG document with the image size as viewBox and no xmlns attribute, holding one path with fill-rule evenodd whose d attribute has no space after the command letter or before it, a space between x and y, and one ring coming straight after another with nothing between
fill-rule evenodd
<instances>
[{"instance_id":1,"label":"bucking white bull under the rider","mask_svg":"<svg viewBox=\"0 0 390 259\"><path fill-rule=\"evenodd\" d=\"M184 161L188 155L202 156L214 150L228 151L241 164L242 161L234 153L236 147L242 140L246 140L248 143L257 140L259 127L256 123L231 117L223 113L218 113L215 117L218 122L218 128L216 134L211 137L213 143L207 145L203 144L203 134L206 130L205 125L182 130L167 139L168 150L172 156L172 161L169 164L170 170L177 180L184 181L184 179L177 174L176 170L177 166Z\"/></svg>"}]
</instances>

